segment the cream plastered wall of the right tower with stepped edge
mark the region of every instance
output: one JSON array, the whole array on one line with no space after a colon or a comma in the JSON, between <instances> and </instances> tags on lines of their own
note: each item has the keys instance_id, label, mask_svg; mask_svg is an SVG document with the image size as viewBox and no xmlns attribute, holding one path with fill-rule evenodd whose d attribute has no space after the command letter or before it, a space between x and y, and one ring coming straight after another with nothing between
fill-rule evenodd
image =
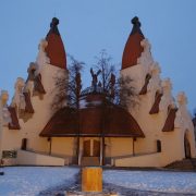
<instances>
[{"instance_id":1,"label":"cream plastered wall of the right tower with stepped edge","mask_svg":"<svg viewBox=\"0 0 196 196\"><path fill-rule=\"evenodd\" d=\"M146 45L148 45L147 41ZM157 158L160 159L159 164L157 164L157 162L149 161L150 164L163 167L173 161L182 160L185 157L184 132L188 130L192 157L195 157L193 123L191 115L187 114L186 105L183 105L182 107L182 103L180 103L180 101L177 100L177 113L181 113L180 117L183 123L181 123L180 125L175 123L175 128L173 132L162 132L162 127L168 115L168 107L176 107L175 100L171 95L171 82L169 78L163 81L160 79L160 68L158 63L154 62L152 58L150 57L149 47L146 48L146 50L143 52L142 57L137 60L137 65L121 71L121 75L130 76L134 81L133 86L135 87L135 91L137 94L140 91L142 87L145 84L146 75L151 75L147 88L147 94L138 95L139 105L134 108L130 108L130 112L136 119L145 134L145 138L136 139L135 154L156 152L156 142L157 139L159 139L161 140L162 149L161 154L159 154L160 156L157 156ZM157 90L163 94L159 105L159 113L149 114L149 111L155 101L155 95ZM148 159L148 157L149 156L147 156L146 159ZM157 160L157 158L155 159L155 161ZM130 160L131 159L124 159L124 161L127 162L127 164ZM134 159L134 162L136 160L139 160L139 158ZM119 161L119 163L121 161Z\"/></svg>"}]
</instances>

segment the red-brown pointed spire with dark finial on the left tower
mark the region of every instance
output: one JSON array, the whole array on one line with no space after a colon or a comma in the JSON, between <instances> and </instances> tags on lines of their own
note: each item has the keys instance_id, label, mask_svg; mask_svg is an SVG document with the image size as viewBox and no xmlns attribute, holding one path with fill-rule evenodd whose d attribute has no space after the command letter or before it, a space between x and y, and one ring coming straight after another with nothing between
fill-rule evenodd
<instances>
[{"instance_id":1,"label":"red-brown pointed spire with dark finial on the left tower","mask_svg":"<svg viewBox=\"0 0 196 196\"><path fill-rule=\"evenodd\" d=\"M50 23L50 30L46 36L46 40L48 41L46 53L50 59L50 64L61 69L66 69L66 54L58 29L58 24L59 20L53 17Z\"/></svg>"}]
</instances>

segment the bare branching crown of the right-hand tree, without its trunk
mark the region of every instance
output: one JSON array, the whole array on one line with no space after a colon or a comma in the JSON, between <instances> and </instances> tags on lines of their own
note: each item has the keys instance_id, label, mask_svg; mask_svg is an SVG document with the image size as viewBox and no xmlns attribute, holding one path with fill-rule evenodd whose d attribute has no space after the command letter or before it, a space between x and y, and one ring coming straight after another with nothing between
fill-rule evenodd
<instances>
[{"instance_id":1,"label":"bare branching crown of the right-hand tree, without its trunk","mask_svg":"<svg viewBox=\"0 0 196 196\"><path fill-rule=\"evenodd\" d=\"M95 68L98 72L100 71L98 86L101 87L102 94L106 96L105 105L107 102L113 103L124 109L137 105L137 95L133 87L133 79L117 73L115 65L111 62L112 58L108 56L106 50L102 50L96 59Z\"/></svg>"}]
</instances>

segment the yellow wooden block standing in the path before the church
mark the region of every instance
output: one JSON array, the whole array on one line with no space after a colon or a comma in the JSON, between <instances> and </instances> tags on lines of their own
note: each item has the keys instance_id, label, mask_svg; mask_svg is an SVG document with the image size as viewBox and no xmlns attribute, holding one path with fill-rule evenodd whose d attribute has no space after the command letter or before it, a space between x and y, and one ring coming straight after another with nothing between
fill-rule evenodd
<instances>
[{"instance_id":1,"label":"yellow wooden block standing in the path before the church","mask_svg":"<svg viewBox=\"0 0 196 196\"><path fill-rule=\"evenodd\" d=\"M102 192L102 169L100 167L82 169L82 192Z\"/></svg>"}]
</instances>

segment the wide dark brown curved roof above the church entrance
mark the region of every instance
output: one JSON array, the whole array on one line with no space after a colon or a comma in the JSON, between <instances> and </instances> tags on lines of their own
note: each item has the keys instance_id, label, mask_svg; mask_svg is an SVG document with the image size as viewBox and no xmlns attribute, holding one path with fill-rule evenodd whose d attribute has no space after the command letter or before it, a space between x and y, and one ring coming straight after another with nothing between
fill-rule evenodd
<instances>
[{"instance_id":1,"label":"wide dark brown curved roof above the church entrance","mask_svg":"<svg viewBox=\"0 0 196 196\"><path fill-rule=\"evenodd\" d=\"M59 110L41 131L44 137L145 137L136 120L117 106Z\"/></svg>"}]
</instances>

